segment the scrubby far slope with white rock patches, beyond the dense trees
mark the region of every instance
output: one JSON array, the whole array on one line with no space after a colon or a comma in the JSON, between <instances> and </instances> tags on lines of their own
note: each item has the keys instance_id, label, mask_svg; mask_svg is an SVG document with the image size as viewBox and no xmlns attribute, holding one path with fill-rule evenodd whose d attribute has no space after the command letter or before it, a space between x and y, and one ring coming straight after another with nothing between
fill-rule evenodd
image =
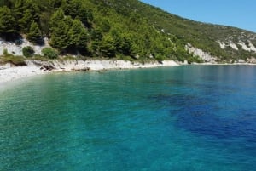
<instances>
[{"instance_id":1,"label":"scrubby far slope with white rock patches, beyond the dense trees","mask_svg":"<svg viewBox=\"0 0 256 171\"><path fill-rule=\"evenodd\" d=\"M118 2L120 3L118 0L113 0L113 3ZM219 60L246 60L256 56L256 33L252 31L183 19L134 0L125 1L122 5L125 7L127 2L129 8L137 10L137 13L147 18L150 25L159 31L173 34L184 43L189 43L194 49L199 48L218 57Z\"/></svg>"}]
</instances>

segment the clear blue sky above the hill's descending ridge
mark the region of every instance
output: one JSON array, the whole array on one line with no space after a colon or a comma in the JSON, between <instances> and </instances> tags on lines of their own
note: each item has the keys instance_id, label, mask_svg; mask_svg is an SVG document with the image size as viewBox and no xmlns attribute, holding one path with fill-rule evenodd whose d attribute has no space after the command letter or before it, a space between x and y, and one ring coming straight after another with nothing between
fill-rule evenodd
<instances>
[{"instance_id":1,"label":"clear blue sky above the hill's descending ridge","mask_svg":"<svg viewBox=\"0 0 256 171\"><path fill-rule=\"evenodd\" d=\"M183 18L256 32L256 0L141 0Z\"/></svg>"}]
</instances>

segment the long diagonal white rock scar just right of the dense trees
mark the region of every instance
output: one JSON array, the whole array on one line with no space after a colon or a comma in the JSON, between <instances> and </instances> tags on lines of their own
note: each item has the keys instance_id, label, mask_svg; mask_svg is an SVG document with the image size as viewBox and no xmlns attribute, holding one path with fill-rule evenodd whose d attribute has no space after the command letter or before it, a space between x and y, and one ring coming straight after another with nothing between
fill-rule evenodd
<instances>
[{"instance_id":1,"label":"long diagonal white rock scar just right of the dense trees","mask_svg":"<svg viewBox=\"0 0 256 171\"><path fill-rule=\"evenodd\" d=\"M206 62L214 62L218 59L218 57L212 56L211 54L208 54L207 52L204 52L199 48L192 47L191 44L186 45L185 48L189 50L189 53L199 56L202 60L205 60Z\"/></svg>"}]
</instances>

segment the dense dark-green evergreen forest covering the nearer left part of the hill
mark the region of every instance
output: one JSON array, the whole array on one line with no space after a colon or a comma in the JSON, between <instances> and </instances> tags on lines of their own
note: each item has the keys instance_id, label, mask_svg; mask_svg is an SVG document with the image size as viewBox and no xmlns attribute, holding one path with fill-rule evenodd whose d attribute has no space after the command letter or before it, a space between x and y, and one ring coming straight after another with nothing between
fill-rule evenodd
<instances>
[{"instance_id":1,"label":"dense dark-green evergreen forest covering the nearer left part of the hill","mask_svg":"<svg viewBox=\"0 0 256 171\"><path fill-rule=\"evenodd\" d=\"M61 54L193 60L183 39L160 31L124 2L2 0L0 37L22 35L38 44L49 37L49 44Z\"/></svg>"}]
</instances>

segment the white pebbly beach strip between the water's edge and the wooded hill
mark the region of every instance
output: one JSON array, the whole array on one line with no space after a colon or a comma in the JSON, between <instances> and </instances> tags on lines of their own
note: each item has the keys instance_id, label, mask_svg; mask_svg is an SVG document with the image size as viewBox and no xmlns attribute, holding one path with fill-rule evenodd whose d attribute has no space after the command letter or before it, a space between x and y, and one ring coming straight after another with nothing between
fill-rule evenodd
<instances>
[{"instance_id":1,"label":"white pebbly beach strip between the water's edge and the wooded hill","mask_svg":"<svg viewBox=\"0 0 256 171\"><path fill-rule=\"evenodd\" d=\"M110 69L149 68L157 66L178 66L173 60L161 63L151 61L146 64L126 60L26 60L27 66L0 66L0 84L24 77L46 74L55 71L101 71Z\"/></svg>"}]
</instances>

